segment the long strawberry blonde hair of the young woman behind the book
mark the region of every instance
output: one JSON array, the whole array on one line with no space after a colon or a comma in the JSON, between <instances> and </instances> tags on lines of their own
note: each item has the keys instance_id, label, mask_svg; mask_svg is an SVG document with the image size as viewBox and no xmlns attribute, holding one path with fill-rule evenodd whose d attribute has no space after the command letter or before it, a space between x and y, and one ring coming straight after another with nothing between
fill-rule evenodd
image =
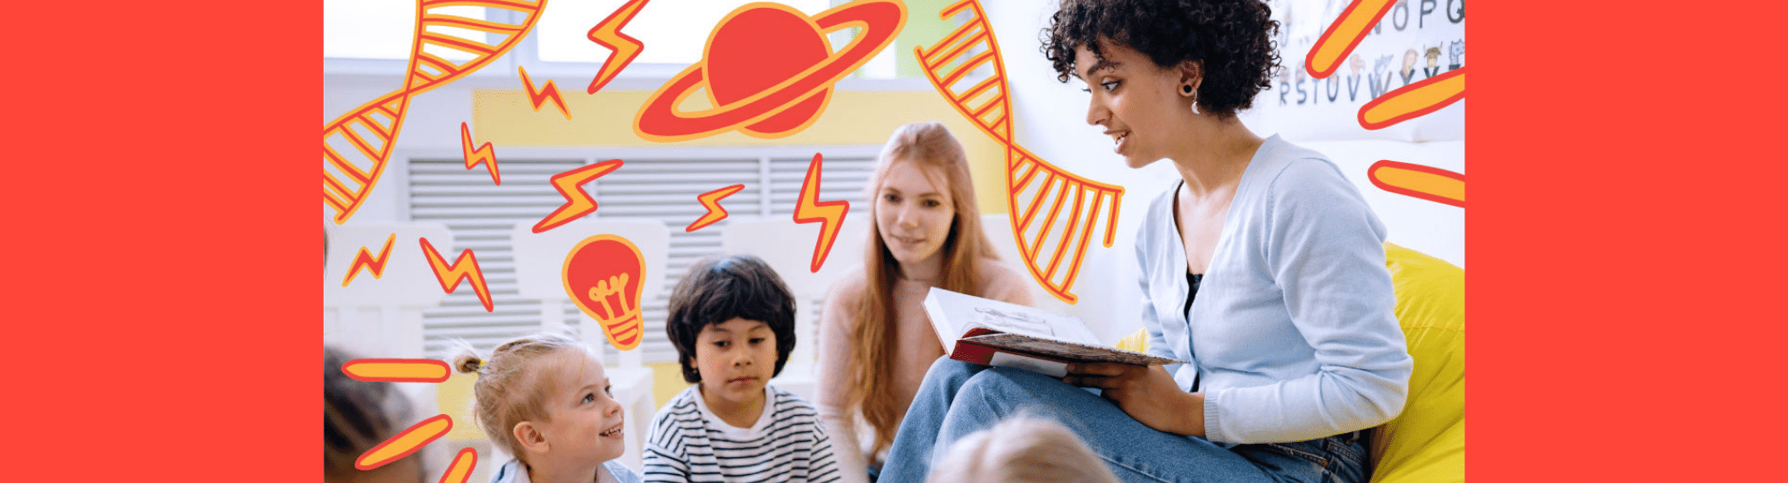
<instances>
[{"instance_id":1,"label":"long strawberry blonde hair of the young woman behind the book","mask_svg":"<svg viewBox=\"0 0 1788 483\"><path fill-rule=\"evenodd\" d=\"M951 292L985 295L982 292L982 272L976 259L996 259L992 242L982 231L982 211L976 208L974 184L969 179L969 157L962 143L944 129L940 122L919 122L901 125L881 147L876 157L876 174L869 181L871 216L869 243L864 250L865 293L856 308L856 324L851 327L851 385L848 385L846 408L858 413L876 431L871 454L894 442L901 413L894 397L894 281L899 277L899 263L881 243L881 225L874 216L881 182L896 163L914 163L933 182L942 181L944 190L957 209L957 220L949 225L949 236L939 249L944 252L944 270L939 286ZM937 179L942 177L942 179Z\"/></svg>"}]
</instances>

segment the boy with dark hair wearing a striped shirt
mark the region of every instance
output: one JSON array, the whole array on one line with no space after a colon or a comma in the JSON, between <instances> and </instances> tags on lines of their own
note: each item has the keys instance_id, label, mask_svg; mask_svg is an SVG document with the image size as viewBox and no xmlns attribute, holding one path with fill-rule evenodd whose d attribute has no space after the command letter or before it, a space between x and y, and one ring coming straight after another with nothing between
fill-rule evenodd
<instances>
[{"instance_id":1,"label":"boy with dark hair wearing a striped shirt","mask_svg":"<svg viewBox=\"0 0 1788 483\"><path fill-rule=\"evenodd\" d=\"M696 383L653 417L645 481L837 481L819 411L769 386L794 351L794 297L755 256L706 258L670 292L665 333Z\"/></svg>"}]
</instances>

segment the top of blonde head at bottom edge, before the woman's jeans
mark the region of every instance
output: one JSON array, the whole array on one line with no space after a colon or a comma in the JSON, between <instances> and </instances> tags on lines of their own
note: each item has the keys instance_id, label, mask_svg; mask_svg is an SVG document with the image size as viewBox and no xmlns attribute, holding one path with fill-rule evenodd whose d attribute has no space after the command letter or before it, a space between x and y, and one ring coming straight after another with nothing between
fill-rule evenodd
<instances>
[{"instance_id":1,"label":"top of blonde head at bottom edge, before the woman's jeans","mask_svg":"<svg viewBox=\"0 0 1788 483\"><path fill-rule=\"evenodd\" d=\"M1017 415L951 444L928 481L1118 483L1118 478L1060 422Z\"/></svg>"}]
</instances>

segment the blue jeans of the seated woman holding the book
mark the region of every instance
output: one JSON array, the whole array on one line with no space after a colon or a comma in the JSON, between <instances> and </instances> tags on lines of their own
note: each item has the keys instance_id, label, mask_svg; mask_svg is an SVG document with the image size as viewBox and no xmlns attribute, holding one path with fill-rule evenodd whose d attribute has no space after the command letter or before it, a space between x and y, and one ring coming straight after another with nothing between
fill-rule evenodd
<instances>
[{"instance_id":1,"label":"blue jeans of the seated woman holding the book","mask_svg":"<svg viewBox=\"0 0 1788 483\"><path fill-rule=\"evenodd\" d=\"M1028 413L1060 420L1123 481L1366 481L1364 431L1291 444L1221 445L1143 426L1050 376L939 358L901 420L880 483L923 483L949 442Z\"/></svg>"}]
</instances>

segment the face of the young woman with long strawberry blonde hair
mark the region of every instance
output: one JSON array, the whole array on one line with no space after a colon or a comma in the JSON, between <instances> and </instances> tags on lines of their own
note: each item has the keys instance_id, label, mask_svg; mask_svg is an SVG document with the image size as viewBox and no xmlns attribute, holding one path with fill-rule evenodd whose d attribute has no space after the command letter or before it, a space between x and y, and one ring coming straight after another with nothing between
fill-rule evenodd
<instances>
[{"instance_id":1,"label":"face of the young woman with long strawberry blonde hair","mask_svg":"<svg viewBox=\"0 0 1788 483\"><path fill-rule=\"evenodd\" d=\"M901 265L932 261L940 256L949 225L957 222L955 200L942 184L942 174L905 159L892 163L876 190L881 243Z\"/></svg>"}]
</instances>

